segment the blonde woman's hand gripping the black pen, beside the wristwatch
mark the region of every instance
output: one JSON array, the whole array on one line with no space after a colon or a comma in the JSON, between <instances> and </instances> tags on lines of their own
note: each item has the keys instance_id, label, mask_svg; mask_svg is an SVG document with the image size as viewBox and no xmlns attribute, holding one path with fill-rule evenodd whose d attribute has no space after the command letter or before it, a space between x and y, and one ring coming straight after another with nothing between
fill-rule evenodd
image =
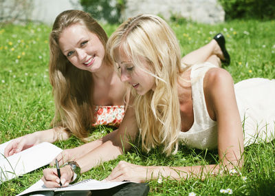
<instances>
[{"instance_id":1,"label":"blonde woman's hand gripping the black pen, beside the wristwatch","mask_svg":"<svg viewBox=\"0 0 275 196\"><path fill-rule=\"evenodd\" d=\"M57 175L56 168L45 168L43 170L43 177L41 178L44 185L47 188L57 188L61 187L59 182L61 182L62 187L68 186L74 177L74 172L71 166L66 165L61 167L61 178L59 179Z\"/></svg>"}]
</instances>

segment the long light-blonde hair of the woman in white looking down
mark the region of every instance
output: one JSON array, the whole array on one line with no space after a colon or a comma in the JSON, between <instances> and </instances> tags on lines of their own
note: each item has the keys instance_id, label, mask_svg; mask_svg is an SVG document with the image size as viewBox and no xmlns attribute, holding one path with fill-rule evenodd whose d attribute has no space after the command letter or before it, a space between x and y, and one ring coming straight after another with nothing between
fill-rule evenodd
<instances>
[{"instance_id":1,"label":"long light-blonde hair of the woman in white looking down","mask_svg":"<svg viewBox=\"0 0 275 196\"><path fill-rule=\"evenodd\" d=\"M144 96L135 94L142 149L150 151L163 145L167 155L176 153L181 130L177 79L184 70L173 30L157 16L138 15L122 23L111 35L107 51L114 62L118 62L121 51L125 52L133 65L155 77L155 91L150 90ZM144 69L140 57L146 59L150 70Z\"/></svg>"}]
</instances>

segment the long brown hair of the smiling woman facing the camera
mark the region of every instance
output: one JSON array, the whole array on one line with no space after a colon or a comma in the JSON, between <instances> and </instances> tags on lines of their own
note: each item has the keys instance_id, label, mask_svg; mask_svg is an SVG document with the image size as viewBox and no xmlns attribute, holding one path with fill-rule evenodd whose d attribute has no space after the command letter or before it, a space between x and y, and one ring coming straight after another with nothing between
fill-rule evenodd
<instances>
[{"instance_id":1,"label":"long brown hair of the smiling woman facing the camera","mask_svg":"<svg viewBox=\"0 0 275 196\"><path fill-rule=\"evenodd\" d=\"M54 127L60 126L86 141L91 123L94 122L93 80L91 72L76 68L61 52L58 41L70 25L80 23L98 36L106 48L107 34L87 12L67 10L56 17L50 33L50 83L55 101ZM105 52L104 61L111 65Z\"/></svg>"}]
</instances>

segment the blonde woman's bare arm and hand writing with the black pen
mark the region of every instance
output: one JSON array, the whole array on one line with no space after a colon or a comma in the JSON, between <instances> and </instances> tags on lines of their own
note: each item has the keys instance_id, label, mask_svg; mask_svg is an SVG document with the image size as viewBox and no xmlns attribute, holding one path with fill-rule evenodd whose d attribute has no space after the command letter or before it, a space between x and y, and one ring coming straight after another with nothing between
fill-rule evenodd
<instances>
[{"instance_id":1,"label":"blonde woman's bare arm and hand writing with the black pen","mask_svg":"<svg viewBox=\"0 0 275 196\"><path fill-rule=\"evenodd\" d=\"M90 145L85 144L81 146L81 151L87 151L85 155L75 159L75 162L80 166L81 173L89 171L94 166L97 166L101 162L107 162L113 160L118 155L129 151L131 140L135 140L137 135L137 123L135 120L135 111L133 107L129 106L126 109L125 116L120 124L120 128L105 135L104 138L96 140L95 149L88 149ZM94 143L95 144L95 143ZM61 181L63 184L68 184L72 180L72 171L68 169L69 166L61 168ZM59 178L55 173L56 169L46 168L43 171L42 180L47 187L59 187ZM57 180L57 181L56 181Z\"/></svg>"}]
</instances>

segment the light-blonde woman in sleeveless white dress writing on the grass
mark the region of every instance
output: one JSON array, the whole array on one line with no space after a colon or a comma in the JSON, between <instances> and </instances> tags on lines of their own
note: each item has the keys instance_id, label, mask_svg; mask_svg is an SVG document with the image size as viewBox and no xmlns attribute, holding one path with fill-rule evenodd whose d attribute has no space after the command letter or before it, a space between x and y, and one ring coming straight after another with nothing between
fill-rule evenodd
<instances>
[{"instance_id":1,"label":"light-blonde woman in sleeveless white dress writing on the grass","mask_svg":"<svg viewBox=\"0 0 275 196\"><path fill-rule=\"evenodd\" d=\"M275 80L252 78L234 85L230 74L218 67L216 55L207 63L184 65L177 38L161 18L142 14L129 19L112 34L107 48L121 80L131 86L132 96L110 140L75 160L81 172L118 157L131 148L129 140L139 138L144 151L163 146L167 155L177 153L179 144L217 148L220 163L175 167L122 161L107 180L203 178L241 167L243 146L274 137ZM45 186L59 186L56 169L46 168L43 174ZM63 186L73 175L71 166L61 168Z\"/></svg>"}]
</instances>

